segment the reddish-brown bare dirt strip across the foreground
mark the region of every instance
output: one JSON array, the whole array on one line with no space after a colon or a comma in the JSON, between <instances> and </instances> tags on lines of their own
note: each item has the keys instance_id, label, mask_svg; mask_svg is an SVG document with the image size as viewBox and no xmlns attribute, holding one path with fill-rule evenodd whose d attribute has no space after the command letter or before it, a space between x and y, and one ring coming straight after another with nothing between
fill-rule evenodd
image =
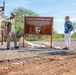
<instances>
[{"instance_id":1,"label":"reddish-brown bare dirt strip across the foreground","mask_svg":"<svg viewBox=\"0 0 76 75\"><path fill-rule=\"evenodd\" d=\"M76 75L76 55L0 63L0 75Z\"/></svg>"}]
</instances>

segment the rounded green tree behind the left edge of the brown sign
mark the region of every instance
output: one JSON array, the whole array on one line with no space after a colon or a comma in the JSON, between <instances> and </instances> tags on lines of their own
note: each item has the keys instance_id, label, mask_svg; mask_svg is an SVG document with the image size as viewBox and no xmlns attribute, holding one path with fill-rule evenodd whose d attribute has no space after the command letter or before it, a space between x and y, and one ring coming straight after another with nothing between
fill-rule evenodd
<instances>
[{"instance_id":1,"label":"rounded green tree behind the left edge of the brown sign","mask_svg":"<svg viewBox=\"0 0 76 75\"><path fill-rule=\"evenodd\" d=\"M23 7L18 7L13 12L16 13L15 27L17 37L21 37L24 32L24 16L38 16L38 14Z\"/></svg>"}]
</instances>

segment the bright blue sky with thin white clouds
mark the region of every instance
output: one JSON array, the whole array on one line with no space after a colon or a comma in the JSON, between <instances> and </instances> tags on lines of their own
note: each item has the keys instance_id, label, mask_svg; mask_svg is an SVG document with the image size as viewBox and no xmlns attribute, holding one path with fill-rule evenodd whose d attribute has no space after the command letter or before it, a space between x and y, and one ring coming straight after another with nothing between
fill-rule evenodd
<instances>
[{"instance_id":1,"label":"bright blue sky with thin white clouds","mask_svg":"<svg viewBox=\"0 0 76 75\"><path fill-rule=\"evenodd\" d=\"M2 5L0 0L0 6ZM70 16L72 22L76 22L76 0L5 0L5 15L17 7L30 9L40 16L54 17L54 29L58 33L64 33L64 18Z\"/></svg>"}]
</instances>

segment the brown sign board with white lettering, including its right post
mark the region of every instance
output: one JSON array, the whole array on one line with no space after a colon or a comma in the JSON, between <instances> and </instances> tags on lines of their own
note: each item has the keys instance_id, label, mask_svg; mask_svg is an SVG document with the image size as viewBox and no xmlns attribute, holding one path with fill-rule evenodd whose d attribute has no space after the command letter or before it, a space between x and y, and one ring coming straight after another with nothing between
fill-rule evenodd
<instances>
[{"instance_id":1,"label":"brown sign board with white lettering, including its right post","mask_svg":"<svg viewBox=\"0 0 76 75\"><path fill-rule=\"evenodd\" d=\"M26 34L51 35L50 47L52 48L52 32L53 32L53 17L25 16L24 35Z\"/></svg>"}]
</instances>

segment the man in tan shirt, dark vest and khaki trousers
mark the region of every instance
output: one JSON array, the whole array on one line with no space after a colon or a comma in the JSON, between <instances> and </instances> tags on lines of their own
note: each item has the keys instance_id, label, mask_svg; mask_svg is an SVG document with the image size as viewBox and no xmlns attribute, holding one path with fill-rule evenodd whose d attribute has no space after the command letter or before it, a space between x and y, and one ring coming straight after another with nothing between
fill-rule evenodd
<instances>
[{"instance_id":1,"label":"man in tan shirt, dark vest and khaki trousers","mask_svg":"<svg viewBox=\"0 0 76 75\"><path fill-rule=\"evenodd\" d=\"M10 40L11 37L13 36L14 38L14 46L15 49L18 49L19 47L17 46L17 37L16 37L16 33L15 33L15 19L16 14L15 13L11 13L11 17L8 20L5 20L5 22L7 23L7 49L10 49Z\"/></svg>"}]
</instances>

